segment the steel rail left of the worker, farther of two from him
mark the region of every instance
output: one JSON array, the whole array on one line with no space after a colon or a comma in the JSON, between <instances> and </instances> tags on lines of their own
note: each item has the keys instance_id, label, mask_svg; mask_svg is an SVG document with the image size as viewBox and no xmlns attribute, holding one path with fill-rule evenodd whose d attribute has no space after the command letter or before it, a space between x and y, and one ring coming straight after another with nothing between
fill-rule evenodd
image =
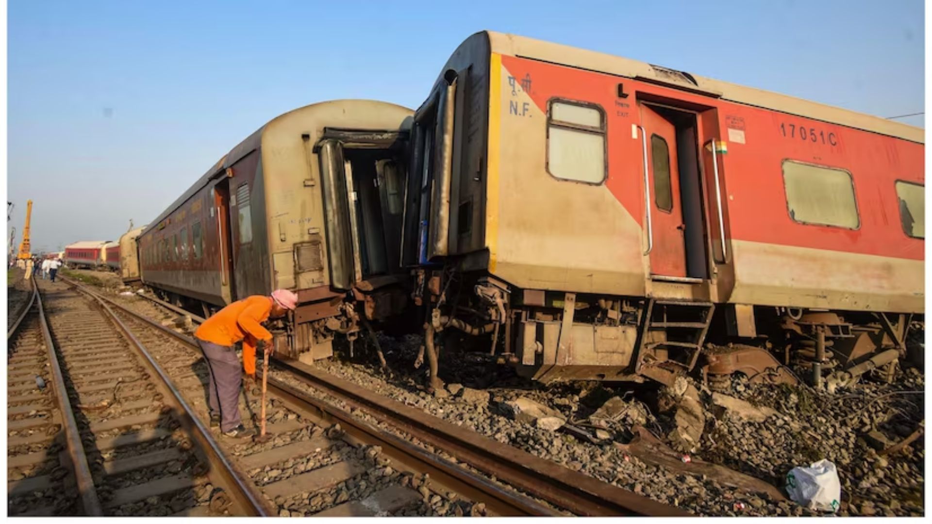
<instances>
[{"instance_id":1,"label":"steel rail left of the worker, farther of two from him","mask_svg":"<svg viewBox=\"0 0 932 524\"><path fill-rule=\"evenodd\" d=\"M64 430L65 443L68 448L68 457L72 463L72 472L75 474L75 484L77 484L77 490L81 496L81 505L89 517L100 517L103 516L101 500L97 496L97 488L94 487L94 478L90 475L88 455L84 451L84 443L81 440L81 433L77 429L77 421L75 421L75 411L71 407L71 399L68 398L68 391L65 389L62 365L59 364L52 334L48 330L46 310L42 305L42 297L38 293L39 286L35 283L35 279L32 280L39 324L42 327L42 337L45 338L46 349L48 350L48 363L52 373L52 389L55 391L56 403L62 412L62 429Z\"/></svg>"}]
</instances>

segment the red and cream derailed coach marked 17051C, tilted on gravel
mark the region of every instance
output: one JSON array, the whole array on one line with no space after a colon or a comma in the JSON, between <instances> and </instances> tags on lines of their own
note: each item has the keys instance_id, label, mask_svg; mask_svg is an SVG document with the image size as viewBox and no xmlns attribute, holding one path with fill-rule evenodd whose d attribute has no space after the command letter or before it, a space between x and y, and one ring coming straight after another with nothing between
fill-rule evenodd
<instances>
[{"instance_id":1,"label":"red and cream derailed coach marked 17051C, tilted on gravel","mask_svg":"<svg viewBox=\"0 0 932 524\"><path fill-rule=\"evenodd\" d=\"M482 32L411 144L434 387L441 331L545 382L716 385L892 374L924 329L920 129Z\"/></svg>"}]
</instances>

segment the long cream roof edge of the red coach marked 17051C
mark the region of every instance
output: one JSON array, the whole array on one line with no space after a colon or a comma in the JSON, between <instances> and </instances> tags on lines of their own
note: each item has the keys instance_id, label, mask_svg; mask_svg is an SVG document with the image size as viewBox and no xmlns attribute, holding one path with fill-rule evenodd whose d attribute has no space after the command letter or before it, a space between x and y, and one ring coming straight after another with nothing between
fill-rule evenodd
<instances>
[{"instance_id":1,"label":"long cream roof edge of the red coach marked 17051C","mask_svg":"<svg viewBox=\"0 0 932 524\"><path fill-rule=\"evenodd\" d=\"M893 120L872 117L848 109L834 107L824 103L809 102L800 98L782 95L766 90L747 88L737 84L722 82L705 76L695 76L665 67L638 62L606 53L599 53L581 48L571 48L552 42L526 38L514 34L495 33L492 31L473 34L473 37L486 34L493 52L517 57L554 62L571 67L588 69L610 75L627 76L665 84L682 90L702 92L735 103L745 103L816 120L840 124L864 131L871 131L895 136L911 142L925 144L925 131Z\"/></svg>"}]
</instances>

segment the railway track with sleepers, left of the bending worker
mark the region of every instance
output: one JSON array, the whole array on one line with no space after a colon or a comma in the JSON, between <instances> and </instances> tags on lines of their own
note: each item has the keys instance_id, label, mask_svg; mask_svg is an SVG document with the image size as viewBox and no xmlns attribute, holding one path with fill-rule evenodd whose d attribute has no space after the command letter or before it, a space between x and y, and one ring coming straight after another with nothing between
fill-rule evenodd
<instances>
[{"instance_id":1,"label":"railway track with sleepers, left of the bending worker","mask_svg":"<svg viewBox=\"0 0 932 524\"><path fill-rule=\"evenodd\" d=\"M8 513L261 514L111 312L38 286L7 341Z\"/></svg>"}]
</instances>

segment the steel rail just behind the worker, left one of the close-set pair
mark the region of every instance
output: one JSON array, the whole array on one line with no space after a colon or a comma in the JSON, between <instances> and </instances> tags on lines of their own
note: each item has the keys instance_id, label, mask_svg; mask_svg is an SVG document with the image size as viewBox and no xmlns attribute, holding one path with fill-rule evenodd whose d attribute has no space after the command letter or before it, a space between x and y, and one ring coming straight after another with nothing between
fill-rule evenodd
<instances>
[{"instance_id":1,"label":"steel rail just behind the worker, left one of the close-set pair","mask_svg":"<svg viewBox=\"0 0 932 524\"><path fill-rule=\"evenodd\" d=\"M193 350L199 351L199 346L193 338L186 337L164 325L158 324L133 310L127 309L106 296L97 297L112 304L117 309L124 311L140 322L148 324L173 338L177 338ZM424 448L411 444L395 434L390 434L372 424L360 421L357 417L349 414L345 409L335 407L326 401L300 392L281 380L269 378L267 385L273 394L278 395L283 401L297 408L297 410L310 410L321 419L340 422L344 431L357 440L366 444L380 446L382 452L388 455L392 460L407 465L417 471L430 474L435 481L473 501L486 503L487 509L496 515L560 515L559 512L541 503L537 503L514 491L506 490L489 481L487 478L445 461Z\"/></svg>"}]
</instances>

